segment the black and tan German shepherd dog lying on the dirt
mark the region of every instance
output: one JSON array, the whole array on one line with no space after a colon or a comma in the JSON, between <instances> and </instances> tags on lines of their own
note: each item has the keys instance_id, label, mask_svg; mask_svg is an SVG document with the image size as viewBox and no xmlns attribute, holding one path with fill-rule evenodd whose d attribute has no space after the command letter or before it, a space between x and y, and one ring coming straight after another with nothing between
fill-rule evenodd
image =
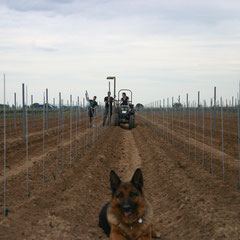
<instances>
[{"instance_id":1,"label":"black and tan German shepherd dog lying on the dirt","mask_svg":"<svg viewBox=\"0 0 240 240\"><path fill-rule=\"evenodd\" d=\"M160 238L152 226L153 211L144 197L143 176L138 168L131 182L121 182L111 171L112 200L99 214L99 226L110 240L151 240Z\"/></svg>"}]
</instances>

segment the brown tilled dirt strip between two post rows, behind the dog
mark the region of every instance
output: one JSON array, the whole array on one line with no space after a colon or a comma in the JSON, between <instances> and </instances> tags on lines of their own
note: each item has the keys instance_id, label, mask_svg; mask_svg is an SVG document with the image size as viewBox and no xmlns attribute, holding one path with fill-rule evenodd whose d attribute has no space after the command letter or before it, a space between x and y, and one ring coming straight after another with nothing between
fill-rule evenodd
<instances>
[{"instance_id":1,"label":"brown tilled dirt strip between two post rows, behind the dog","mask_svg":"<svg viewBox=\"0 0 240 240\"><path fill-rule=\"evenodd\" d=\"M0 239L106 240L98 214L111 198L109 173L115 170L122 180L130 180L138 167L162 239L240 239L239 192L141 122L132 131L109 129L72 168L49 179L46 188L40 178L21 204L13 206L9 199L9 216L0 216ZM19 186L15 182L10 190Z\"/></svg>"}]
</instances>

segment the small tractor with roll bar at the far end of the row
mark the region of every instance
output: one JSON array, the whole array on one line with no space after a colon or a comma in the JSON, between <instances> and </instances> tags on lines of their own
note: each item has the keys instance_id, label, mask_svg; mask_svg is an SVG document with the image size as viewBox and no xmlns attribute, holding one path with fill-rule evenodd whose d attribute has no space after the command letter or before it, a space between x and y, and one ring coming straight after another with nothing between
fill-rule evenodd
<instances>
[{"instance_id":1,"label":"small tractor with roll bar at the far end of the row","mask_svg":"<svg viewBox=\"0 0 240 240\"><path fill-rule=\"evenodd\" d=\"M123 92L129 92L131 95L128 100L128 105L121 104L120 94ZM132 91L130 89L121 89L118 91L117 107L114 113L114 125L119 126L120 124L128 124L130 130L135 128L135 109L132 104Z\"/></svg>"}]
</instances>

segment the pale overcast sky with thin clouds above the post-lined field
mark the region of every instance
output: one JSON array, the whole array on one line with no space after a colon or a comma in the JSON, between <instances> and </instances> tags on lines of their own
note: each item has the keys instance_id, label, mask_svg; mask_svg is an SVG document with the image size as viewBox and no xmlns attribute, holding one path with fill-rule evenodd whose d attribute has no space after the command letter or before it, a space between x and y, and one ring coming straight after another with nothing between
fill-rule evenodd
<instances>
[{"instance_id":1,"label":"pale overcast sky with thin clouds above the post-lined field","mask_svg":"<svg viewBox=\"0 0 240 240\"><path fill-rule=\"evenodd\" d=\"M22 83L35 102L46 88L50 100L88 90L103 101L107 76L131 88L135 103L196 100L197 91L209 101L214 86L230 99L239 13L239 0L0 0L0 80L5 73L10 103L14 92L20 102Z\"/></svg>"}]
</instances>

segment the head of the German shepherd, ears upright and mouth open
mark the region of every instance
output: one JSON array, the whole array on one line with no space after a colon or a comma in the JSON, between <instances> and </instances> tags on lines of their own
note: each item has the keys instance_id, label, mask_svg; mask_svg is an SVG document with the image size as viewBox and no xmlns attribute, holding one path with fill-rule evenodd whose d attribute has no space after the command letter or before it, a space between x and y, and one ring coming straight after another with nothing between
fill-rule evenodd
<instances>
[{"instance_id":1,"label":"head of the German shepherd, ears upright and mouth open","mask_svg":"<svg viewBox=\"0 0 240 240\"><path fill-rule=\"evenodd\" d=\"M110 183L112 189L111 207L115 215L126 223L131 223L141 217L146 210L146 201L142 192L143 176L138 168L130 182L121 182L118 175L111 171Z\"/></svg>"}]
</instances>

